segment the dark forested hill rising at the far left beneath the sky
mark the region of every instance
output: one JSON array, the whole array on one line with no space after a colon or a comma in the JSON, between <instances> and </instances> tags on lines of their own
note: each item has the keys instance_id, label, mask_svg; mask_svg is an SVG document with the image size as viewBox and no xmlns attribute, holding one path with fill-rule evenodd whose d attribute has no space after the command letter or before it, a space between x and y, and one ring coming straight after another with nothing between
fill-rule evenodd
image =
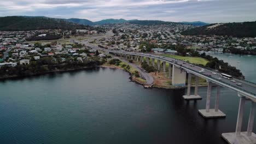
<instances>
[{"instance_id":1,"label":"dark forested hill rising at the far left beneath the sky","mask_svg":"<svg viewBox=\"0 0 256 144\"><path fill-rule=\"evenodd\" d=\"M49 17L6 16L0 17L0 31L32 31L39 29L92 29L61 19Z\"/></svg>"}]
</instances>

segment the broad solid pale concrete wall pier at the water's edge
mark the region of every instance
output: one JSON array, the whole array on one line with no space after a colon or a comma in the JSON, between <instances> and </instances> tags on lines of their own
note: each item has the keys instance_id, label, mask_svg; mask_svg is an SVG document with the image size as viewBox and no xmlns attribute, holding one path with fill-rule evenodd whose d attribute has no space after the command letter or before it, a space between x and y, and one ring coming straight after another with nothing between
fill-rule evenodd
<instances>
[{"instance_id":1,"label":"broad solid pale concrete wall pier at the water's edge","mask_svg":"<svg viewBox=\"0 0 256 144\"><path fill-rule=\"evenodd\" d=\"M182 71L175 65L172 66L172 86L185 86L186 76L186 71Z\"/></svg>"}]
</instances>

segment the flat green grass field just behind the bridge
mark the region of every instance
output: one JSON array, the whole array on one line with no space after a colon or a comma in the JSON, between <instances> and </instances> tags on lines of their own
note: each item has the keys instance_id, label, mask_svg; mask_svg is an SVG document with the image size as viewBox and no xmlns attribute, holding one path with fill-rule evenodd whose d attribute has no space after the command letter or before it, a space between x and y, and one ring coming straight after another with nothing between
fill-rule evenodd
<instances>
[{"instance_id":1,"label":"flat green grass field just behind the bridge","mask_svg":"<svg viewBox=\"0 0 256 144\"><path fill-rule=\"evenodd\" d=\"M207 59L201 58L201 57L184 57L184 56L169 55L169 54L162 54L161 56L176 58L186 62L189 61L189 63L194 63L194 64L206 65L209 62Z\"/></svg>"}]
</instances>

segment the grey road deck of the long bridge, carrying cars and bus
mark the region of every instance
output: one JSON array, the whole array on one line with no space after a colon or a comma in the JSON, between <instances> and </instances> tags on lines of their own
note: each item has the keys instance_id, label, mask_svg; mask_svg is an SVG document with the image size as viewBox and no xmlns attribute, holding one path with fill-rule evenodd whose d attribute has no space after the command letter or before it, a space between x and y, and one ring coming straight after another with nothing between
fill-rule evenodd
<instances>
[{"instance_id":1,"label":"grey road deck of the long bridge, carrying cars and bus","mask_svg":"<svg viewBox=\"0 0 256 144\"><path fill-rule=\"evenodd\" d=\"M205 69L205 73L200 73L199 71L202 69L202 67L199 67L196 65L193 67L191 66L190 63L187 63L178 59L174 59L174 58L160 57L158 55L136 53L136 52L124 52L124 51L110 51L110 52L117 52L117 53L124 53L124 54L126 53L131 55L138 55L138 56L144 56L144 57L146 56L146 57L151 57L155 59L160 59L161 61L172 63L177 67L184 69L185 71L189 71L190 73L193 73L195 75L198 75L200 77L213 81L214 83L231 88L234 91L249 95L248 97L252 97L256 100L256 84L252 82L234 79L236 82L241 82L243 84L243 86L237 86L236 82L231 82L230 80L225 79L223 77L222 77L222 80L218 80L218 78L221 77L220 73L213 74L213 71L208 69ZM177 61L177 63L175 63L175 61Z\"/></svg>"}]
</instances>

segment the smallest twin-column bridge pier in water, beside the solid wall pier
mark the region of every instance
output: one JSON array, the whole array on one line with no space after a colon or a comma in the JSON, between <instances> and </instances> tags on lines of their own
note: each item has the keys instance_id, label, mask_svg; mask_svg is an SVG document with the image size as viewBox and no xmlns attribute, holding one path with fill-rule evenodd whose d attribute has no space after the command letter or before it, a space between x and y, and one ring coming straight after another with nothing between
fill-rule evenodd
<instances>
[{"instance_id":1,"label":"smallest twin-column bridge pier in water, beside the solid wall pier","mask_svg":"<svg viewBox=\"0 0 256 144\"><path fill-rule=\"evenodd\" d=\"M196 78L196 80L195 80L195 94L194 94L194 95L190 95L191 73L188 74L188 89L187 89L187 95L183 95L183 98L184 98L185 100L198 100L198 99L202 99L202 97L200 97L200 95L197 94L199 77L198 77L198 76L195 76L195 78Z\"/></svg>"}]
</instances>

